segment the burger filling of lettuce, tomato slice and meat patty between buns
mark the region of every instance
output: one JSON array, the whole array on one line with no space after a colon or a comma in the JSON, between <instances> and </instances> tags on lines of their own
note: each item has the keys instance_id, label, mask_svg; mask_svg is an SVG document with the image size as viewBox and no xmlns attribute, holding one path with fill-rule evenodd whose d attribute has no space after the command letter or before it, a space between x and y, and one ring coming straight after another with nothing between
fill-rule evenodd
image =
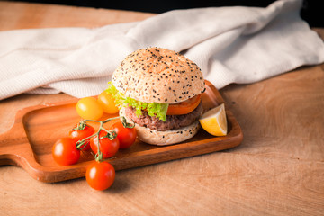
<instances>
[{"instance_id":1,"label":"burger filling of lettuce, tomato slice and meat patty between buns","mask_svg":"<svg viewBox=\"0 0 324 216\"><path fill-rule=\"evenodd\" d=\"M191 125L202 113L201 94L181 103L144 103L119 92L112 82L106 89L115 103L135 123L151 130L176 130Z\"/></svg>"}]
</instances>

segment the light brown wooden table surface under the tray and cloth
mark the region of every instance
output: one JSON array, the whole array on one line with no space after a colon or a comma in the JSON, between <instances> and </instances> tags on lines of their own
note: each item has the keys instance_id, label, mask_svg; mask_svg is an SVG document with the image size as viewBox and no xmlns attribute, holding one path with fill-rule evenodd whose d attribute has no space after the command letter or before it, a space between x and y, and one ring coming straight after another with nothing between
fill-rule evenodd
<instances>
[{"instance_id":1,"label":"light brown wooden table surface under the tray and cloth","mask_svg":"<svg viewBox=\"0 0 324 216\"><path fill-rule=\"evenodd\" d=\"M154 14L0 2L0 31L98 27ZM323 37L323 30L317 29ZM244 133L237 148L119 171L112 188L85 178L48 184L0 166L0 215L323 215L324 65L220 90ZM19 109L70 99L21 94L0 102L0 133Z\"/></svg>"}]
</instances>

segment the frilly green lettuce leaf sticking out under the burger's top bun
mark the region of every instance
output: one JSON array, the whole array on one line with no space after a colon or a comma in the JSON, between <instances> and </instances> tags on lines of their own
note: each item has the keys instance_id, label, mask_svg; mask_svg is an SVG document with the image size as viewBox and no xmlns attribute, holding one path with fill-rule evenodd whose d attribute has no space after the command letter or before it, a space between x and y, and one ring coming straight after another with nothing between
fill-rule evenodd
<instances>
[{"instance_id":1,"label":"frilly green lettuce leaf sticking out under the burger's top bun","mask_svg":"<svg viewBox=\"0 0 324 216\"><path fill-rule=\"evenodd\" d=\"M144 103L139 102L133 98L126 97L119 92L117 88L112 85L112 82L108 82L108 88L105 90L108 94L112 94L112 98L115 100L116 105L121 107L131 106L136 109L136 115L142 114L142 110L146 110L149 116L155 116L157 119L166 121L166 112L168 103Z\"/></svg>"}]
</instances>

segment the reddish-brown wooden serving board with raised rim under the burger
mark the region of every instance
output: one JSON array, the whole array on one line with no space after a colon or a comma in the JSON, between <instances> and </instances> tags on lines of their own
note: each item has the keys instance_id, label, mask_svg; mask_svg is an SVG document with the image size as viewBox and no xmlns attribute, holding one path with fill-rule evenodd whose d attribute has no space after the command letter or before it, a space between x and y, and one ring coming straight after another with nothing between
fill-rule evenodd
<instances>
[{"instance_id":1,"label":"reddish-brown wooden serving board with raised rim under the burger","mask_svg":"<svg viewBox=\"0 0 324 216\"><path fill-rule=\"evenodd\" d=\"M76 113L77 100L32 106L17 112L14 126L0 135L0 165L21 166L33 178L42 182L59 182L85 176L93 160L91 153L81 154L76 165L59 166L52 158L53 144L68 136L68 130L80 121ZM218 90L206 81L202 94L204 111L224 103ZM192 139L171 146L152 146L137 140L128 149L120 150L109 162L116 170L156 164L184 157L202 155L238 146L243 134L238 121L226 109L228 135L214 137L199 130ZM113 117L104 115L103 119ZM96 127L95 125L93 125Z\"/></svg>"}]
</instances>

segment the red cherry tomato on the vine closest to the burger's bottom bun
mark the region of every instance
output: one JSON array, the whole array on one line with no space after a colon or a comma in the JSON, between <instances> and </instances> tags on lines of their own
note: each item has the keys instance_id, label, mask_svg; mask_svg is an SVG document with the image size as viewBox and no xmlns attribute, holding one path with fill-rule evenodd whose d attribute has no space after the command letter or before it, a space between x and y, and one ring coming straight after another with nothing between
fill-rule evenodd
<instances>
[{"instance_id":1,"label":"red cherry tomato on the vine closest to the burger's bottom bun","mask_svg":"<svg viewBox=\"0 0 324 216\"><path fill-rule=\"evenodd\" d=\"M125 128L121 121L117 121L112 125L111 130L115 130L117 132L117 138L120 142L120 148L130 148L132 144L134 144L137 132L135 128Z\"/></svg>"}]
</instances>

